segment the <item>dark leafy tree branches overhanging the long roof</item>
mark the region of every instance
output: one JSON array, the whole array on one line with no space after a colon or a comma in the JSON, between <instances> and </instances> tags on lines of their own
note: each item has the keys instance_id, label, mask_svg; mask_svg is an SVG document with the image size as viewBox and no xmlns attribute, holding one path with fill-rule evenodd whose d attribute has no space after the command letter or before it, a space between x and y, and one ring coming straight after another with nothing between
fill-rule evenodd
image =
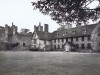
<instances>
[{"instance_id":1,"label":"dark leafy tree branches overhanging the long roof","mask_svg":"<svg viewBox=\"0 0 100 75\"><path fill-rule=\"evenodd\" d=\"M100 0L39 0L32 2L34 9L45 15L50 15L57 23L87 23L90 19L96 21L100 18L100 3L96 8L88 7L94 1Z\"/></svg>"}]
</instances>

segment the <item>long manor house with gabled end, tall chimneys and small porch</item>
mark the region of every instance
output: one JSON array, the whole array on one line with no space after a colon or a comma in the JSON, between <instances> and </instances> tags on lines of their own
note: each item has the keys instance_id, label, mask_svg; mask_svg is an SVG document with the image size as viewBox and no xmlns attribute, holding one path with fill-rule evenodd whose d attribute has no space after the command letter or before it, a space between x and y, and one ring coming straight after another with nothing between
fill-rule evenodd
<instances>
[{"instance_id":1,"label":"long manor house with gabled end, tall chimneys and small porch","mask_svg":"<svg viewBox=\"0 0 100 75\"><path fill-rule=\"evenodd\" d=\"M52 33L48 25L34 26L31 48L44 50L76 50L83 52L100 50L100 23L72 28L66 25ZM69 47L68 47L69 46Z\"/></svg>"}]
</instances>

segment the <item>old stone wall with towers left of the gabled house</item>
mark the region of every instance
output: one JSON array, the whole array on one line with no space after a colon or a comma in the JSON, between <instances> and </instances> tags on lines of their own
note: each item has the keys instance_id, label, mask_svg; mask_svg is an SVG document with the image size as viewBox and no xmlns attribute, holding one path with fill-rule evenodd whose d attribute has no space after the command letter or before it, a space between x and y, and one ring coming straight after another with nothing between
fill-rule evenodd
<instances>
[{"instance_id":1,"label":"old stone wall with towers left of the gabled house","mask_svg":"<svg viewBox=\"0 0 100 75\"><path fill-rule=\"evenodd\" d=\"M12 26L0 27L0 41L3 43L15 44L19 43L17 49L20 47L27 47L31 45L32 33L18 33L17 26L12 23Z\"/></svg>"}]
</instances>

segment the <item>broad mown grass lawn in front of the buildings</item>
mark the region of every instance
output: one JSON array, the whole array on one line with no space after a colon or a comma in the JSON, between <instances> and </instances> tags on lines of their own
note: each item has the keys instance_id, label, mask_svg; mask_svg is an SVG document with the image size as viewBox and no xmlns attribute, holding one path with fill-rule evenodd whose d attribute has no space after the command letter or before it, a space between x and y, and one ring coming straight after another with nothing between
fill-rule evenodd
<instances>
[{"instance_id":1,"label":"broad mown grass lawn in front of the buildings","mask_svg":"<svg viewBox=\"0 0 100 75\"><path fill-rule=\"evenodd\" d=\"M0 51L0 75L100 75L100 54Z\"/></svg>"}]
</instances>

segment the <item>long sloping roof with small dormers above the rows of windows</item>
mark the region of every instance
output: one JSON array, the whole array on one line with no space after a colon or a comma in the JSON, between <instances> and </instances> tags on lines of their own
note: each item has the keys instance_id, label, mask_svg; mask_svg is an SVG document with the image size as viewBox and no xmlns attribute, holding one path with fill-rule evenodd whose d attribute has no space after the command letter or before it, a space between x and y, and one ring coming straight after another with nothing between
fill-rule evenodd
<instances>
[{"instance_id":1,"label":"long sloping roof with small dormers above the rows of windows","mask_svg":"<svg viewBox=\"0 0 100 75\"><path fill-rule=\"evenodd\" d=\"M67 37L78 37L91 35L92 31L98 24L85 25L81 27L74 27L70 29L61 29L53 32L52 39L56 38L67 38Z\"/></svg>"}]
</instances>

